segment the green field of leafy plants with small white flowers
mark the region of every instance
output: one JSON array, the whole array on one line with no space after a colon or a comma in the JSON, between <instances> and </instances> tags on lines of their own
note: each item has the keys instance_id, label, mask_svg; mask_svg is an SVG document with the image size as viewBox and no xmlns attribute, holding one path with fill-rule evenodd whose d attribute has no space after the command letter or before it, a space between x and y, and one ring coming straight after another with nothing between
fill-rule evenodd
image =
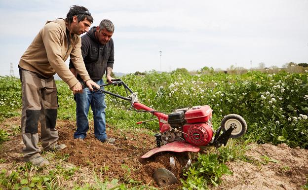
<instances>
[{"instance_id":1,"label":"green field of leafy plants with small white flowers","mask_svg":"<svg viewBox=\"0 0 308 190\"><path fill-rule=\"evenodd\" d=\"M200 154L198 162L185 174L187 178L181 180L184 190L201 190L201 188L206 189L209 184L218 185L220 176L230 173L228 167L224 165L226 161L246 160L243 152L248 142L274 145L286 143L293 148L308 149L307 73L248 72L243 75L197 74L192 76L179 70L161 74L150 72L144 76L131 74L120 78L134 92L138 92L141 103L157 111L168 114L178 108L209 105L213 109L214 128L220 126L222 118L227 114L239 114L245 118L248 126L247 133L237 140L238 145L236 145L237 141L234 141L232 146L222 147L218 152ZM58 118L75 120L75 101L72 92L63 81L57 81L57 87L60 106ZM123 87L108 86L105 89L126 96ZM106 120L109 125L121 129L145 128L153 133L159 130L157 121L137 125L137 121L153 117L148 113L128 111L129 102L107 96L106 103ZM0 120L19 116L20 109L19 79L1 76ZM0 129L0 143L7 141L10 135ZM204 165L205 160L206 163L212 164ZM25 165L25 167L28 166ZM10 181L6 180L8 175L10 175ZM208 180L204 180L205 178ZM0 189L1 186L4 189L7 188L8 184L12 186L19 184L20 189L28 187L28 183L22 179L21 176L12 177L12 173L1 171ZM44 183L43 178L38 178L38 181L41 184ZM25 184L22 184L23 182ZM114 190L116 188L118 190L147 189L142 186L121 185L116 186Z\"/></svg>"}]
</instances>

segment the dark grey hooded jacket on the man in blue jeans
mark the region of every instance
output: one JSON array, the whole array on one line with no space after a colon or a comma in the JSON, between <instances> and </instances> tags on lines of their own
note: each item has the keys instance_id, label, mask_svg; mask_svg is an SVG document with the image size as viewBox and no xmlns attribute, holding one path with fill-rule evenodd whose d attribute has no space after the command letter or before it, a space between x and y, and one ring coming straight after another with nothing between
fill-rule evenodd
<instances>
[{"instance_id":1,"label":"dark grey hooded jacket on the man in blue jeans","mask_svg":"<svg viewBox=\"0 0 308 190\"><path fill-rule=\"evenodd\" d=\"M107 44L101 44L94 35L96 27L81 37L81 53L85 68L92 80L101 79L107 67L114 68L114 41L111 38ZM75 68L72 60L70 60L70 69ZM78 80L82 80L77 75Z\"/></svg>"}]
</instances>

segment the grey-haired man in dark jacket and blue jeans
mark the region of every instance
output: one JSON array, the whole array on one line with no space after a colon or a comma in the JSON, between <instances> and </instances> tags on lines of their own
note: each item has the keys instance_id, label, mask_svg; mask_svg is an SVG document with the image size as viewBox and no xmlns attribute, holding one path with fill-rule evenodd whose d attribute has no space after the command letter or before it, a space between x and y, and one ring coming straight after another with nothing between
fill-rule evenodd
<instances>
[{"instance_id":1,"label":"grey-haired man in dark jacket and blue jeans","mask_svg":"<svg viewBox=\"0 0 308 190\"><path fill-rule=\"evenodd\" d=\"M107 82L111 82L111 72L114 66L114 41L111 38L114 34L115 26L107 19L101 21L98 27L93 27L86 35L81 37L81 52L85 68L90 78L97 84L102 85L102 77L106 72ZM70 70L82 81L79 73L70 61ZM108 138L106 134L105 118L105 94L100 91L90 91L83 89L82 94L75 94L76 100L76 120L77 130L74 134L75 139L84 139L89 129L88 112L91 105L94 117L94 135L101 142L114 144L114 138Z\"/></svg>"}]
</instances>

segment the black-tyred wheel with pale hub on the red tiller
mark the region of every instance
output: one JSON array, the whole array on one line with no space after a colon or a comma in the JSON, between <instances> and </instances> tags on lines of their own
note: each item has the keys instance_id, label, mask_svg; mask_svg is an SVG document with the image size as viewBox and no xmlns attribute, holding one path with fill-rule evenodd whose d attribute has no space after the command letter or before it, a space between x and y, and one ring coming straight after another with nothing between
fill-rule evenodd
<instances>
[{"instance_id":1,"label":"black-tyred wheel with pale hub on the red tiller","mask_svg":"<svg viewBox=\"0 0 308 190\"><path fill-rule=\"evenodd\" d=\"M234 129L230 138L237 139L246 133L247 124L242 116L238 114L229 114L223 118L221 122L223 132L226 132L232 126L234 126Z\"/></svg>"}]
</instances>

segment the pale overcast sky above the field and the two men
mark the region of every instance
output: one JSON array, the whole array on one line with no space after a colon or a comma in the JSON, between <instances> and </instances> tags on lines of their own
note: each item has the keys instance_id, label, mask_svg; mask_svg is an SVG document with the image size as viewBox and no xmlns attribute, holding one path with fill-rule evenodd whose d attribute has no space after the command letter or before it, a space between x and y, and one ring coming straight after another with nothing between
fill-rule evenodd
<instances>
[{"instance_id":1,"label":"pale overcast sky above the field and the two men","mask_svg":"<svg viewBox=\"0 0 308 190\"><path fill-rule=\"evenodd\" d=\"M308 0L0 0L0 75L74 4L114 23L114 72L308 63Z\"/></svg>"}]
</instances>

